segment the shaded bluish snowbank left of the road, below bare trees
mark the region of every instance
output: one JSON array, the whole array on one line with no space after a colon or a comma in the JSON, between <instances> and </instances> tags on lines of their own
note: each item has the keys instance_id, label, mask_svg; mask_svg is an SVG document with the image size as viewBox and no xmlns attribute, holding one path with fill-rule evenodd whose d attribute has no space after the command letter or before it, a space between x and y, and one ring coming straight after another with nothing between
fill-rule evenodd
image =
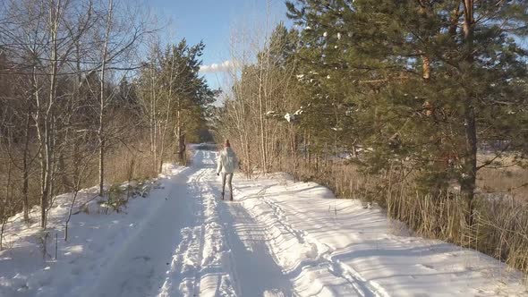
<instances>
[{"instance_id":1,"label":"shaded bluish snowbank left of the road, below bare trees","mask_svg":"<svg viewBox=\"0 0 528 297\"><path fill-rule=\"evenodd\" d=\"M175 166L165 169L171 176L183 170ZM169 179L163 175L158 182ZM147 198L138 195L122 207L123 211L109 210L108 215L96 187L80 191L69 223L68 242L64 242L64 225L71 193L55 198L46 232L39 228L38 207L31 209L30 225L23 223L21 214L13 216L5 231L7 249L0 251L0 296L79 296L92 285L101 267L123 250L125 239L141 229L149 211L163 206L164 191L160 186Z\"/></svg>"}]
</instances>

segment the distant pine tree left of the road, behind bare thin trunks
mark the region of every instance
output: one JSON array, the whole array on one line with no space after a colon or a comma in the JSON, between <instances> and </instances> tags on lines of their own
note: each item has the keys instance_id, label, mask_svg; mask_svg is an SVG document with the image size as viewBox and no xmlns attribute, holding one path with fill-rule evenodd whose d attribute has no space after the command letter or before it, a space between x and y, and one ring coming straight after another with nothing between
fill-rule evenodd
<instances>
[{"instance_id":1,"label":"distant pine tree left of the road, behind bare thin trunks","mask_svg":"<svg viewBox=\"0 0 528 297\"><path fill-rule=\"evenodd\" d=\"M204 48L202 42L189 46L185 39L163 51L152 47L150 61L136 82L150 117L151 151L158 170L172 142L178 160L184 162L186 135L197 139L217 97L218 91L210 89L199 73Z\"/></svg>"}]
</instances>

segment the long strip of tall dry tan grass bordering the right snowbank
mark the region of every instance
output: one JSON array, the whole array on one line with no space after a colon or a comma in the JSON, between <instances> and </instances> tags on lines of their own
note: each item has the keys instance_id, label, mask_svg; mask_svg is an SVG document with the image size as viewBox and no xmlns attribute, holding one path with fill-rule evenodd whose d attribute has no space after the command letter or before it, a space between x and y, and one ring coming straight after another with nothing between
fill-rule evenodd
<instances>
[{"instance_id":1,"label":"long strip of tall dry tan grass bordering the right snowbank","mask_svg":"<svg viewBox=\"0 0 528 297\"><path fill-rule=\"evenodd\" d=\"M475 198L473 225L467 225L467 201L456 191L436 199L419 194L411 177L403 178L401 172L368 175L342 161L319 160L315 165L293 158L285 159L280 170L298 180L319 182L338 198L377 202L387 216L414 233L480 250L528 273L528 191L515 188L528 181L521 167L481 171L478 185L486 191Z\"/></svg>"}]
</instances>

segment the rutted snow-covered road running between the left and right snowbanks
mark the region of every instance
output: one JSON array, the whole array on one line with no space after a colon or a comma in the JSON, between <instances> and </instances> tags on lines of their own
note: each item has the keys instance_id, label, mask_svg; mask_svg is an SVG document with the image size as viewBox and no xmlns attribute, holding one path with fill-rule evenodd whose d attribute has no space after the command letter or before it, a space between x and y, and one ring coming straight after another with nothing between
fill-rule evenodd
<instances>
[{"instance_id":1,"label":"rutted snow-covered road running between the left and right snowbanks","mask_svg":"<svg viewBox=\"0 0 528 297\"><path fill-rule=\"evenodd\" d=\"M239 202L218 199L215 159L199 150L191 167L165 182L166 203L142 218L84 296L294 294L265 226Z\"/></svg>"}]
</instances>

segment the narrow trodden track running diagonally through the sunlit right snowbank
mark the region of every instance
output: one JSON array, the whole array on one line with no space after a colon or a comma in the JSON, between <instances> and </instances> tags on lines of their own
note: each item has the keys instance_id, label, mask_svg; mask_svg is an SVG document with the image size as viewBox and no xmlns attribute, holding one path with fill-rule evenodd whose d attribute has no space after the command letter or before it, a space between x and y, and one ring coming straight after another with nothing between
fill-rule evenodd
<instances>
[{"instance_id":1,"label":"narrow trodden track running diagonally through the sunlit right snowbank","mask_svg":"<svg viewBox=\"0 0 528 297\"><path fill-rule=\"evenodd\" d=\"M301 244L309 244L315 250L314 261L310 265L325 265L328 267L328 271L337 277L345 279L347 283L353 286L356 293L362 297L389 297L389 294L376 282L366 280L360 273L341 262L338 259L334 259L332 254L334 249L325 243L319 242L312 238L309 233L304 230L295 229L293 225L288 222L288 218L283 208L281 208L275 201L263 197L261 194L260 200L268 205L277 216L277 223L282 225L285 230L292 233ZM306 262L304 262L307 264Z\"/></svg>"}]
</instances>

